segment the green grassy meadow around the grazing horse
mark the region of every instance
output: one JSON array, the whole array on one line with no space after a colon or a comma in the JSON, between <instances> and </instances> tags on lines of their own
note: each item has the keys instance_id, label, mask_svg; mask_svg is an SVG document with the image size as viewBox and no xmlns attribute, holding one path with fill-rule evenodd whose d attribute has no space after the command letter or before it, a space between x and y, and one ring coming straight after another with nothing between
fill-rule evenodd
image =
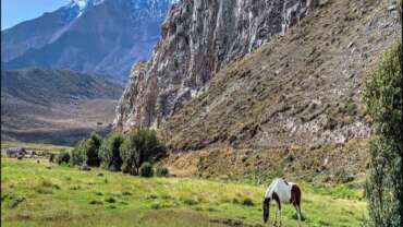
<instances>
[{"instance_id":1,"label":"green grassy meadow around the grazing horse","mask_svg":"<svg viewBox=\"0 0 403 227\"><path fill-rule=\"evenodd\" d=\"M186 178L145 179L44 162L1 160L2 226L261 225L265 187ZM304 226L359 225L364 202L305 184ZM345 193L357 193L351 190ZM271 219L273 212L274 206ZM290 205L284 206L282 219L283 226L296 225Z\"/></svg>"}]
</instances>

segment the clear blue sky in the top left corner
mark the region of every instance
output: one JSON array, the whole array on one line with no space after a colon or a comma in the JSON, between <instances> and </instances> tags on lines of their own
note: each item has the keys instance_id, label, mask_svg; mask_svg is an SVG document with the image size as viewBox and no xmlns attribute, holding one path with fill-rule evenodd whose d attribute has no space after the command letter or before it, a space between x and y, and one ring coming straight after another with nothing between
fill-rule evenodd
<instances>
[{"instance_id":1,"label":"clear blue sky in the top left corner","mask_svg":"<svg viewBox=\"0 0 403 227\"><path fill-rule=\"evenodd\" d=\"M71 0L1 0L1 29L35 19L68 4Z\"/></svg>"}]
</instances>

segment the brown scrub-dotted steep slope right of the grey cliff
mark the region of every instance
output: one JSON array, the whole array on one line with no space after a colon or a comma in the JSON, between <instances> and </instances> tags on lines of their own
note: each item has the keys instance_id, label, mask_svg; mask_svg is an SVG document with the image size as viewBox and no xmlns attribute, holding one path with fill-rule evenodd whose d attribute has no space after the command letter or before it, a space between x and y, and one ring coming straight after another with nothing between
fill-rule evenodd
<instances>
[{"instance_id":1,"label":"brown scrub-dotted steep slope right of the grey cliff","mask_svg":"<svg viewBox=\"0 0 403 227\"><path fill-rule=\"evenodd\" d=\"M370 120L365 74L401 33L387 0L328 1L221 70L161 130L178 171L359 175ZM252 159L251 159L252 158Z\"/></svg>"}]
</instances>

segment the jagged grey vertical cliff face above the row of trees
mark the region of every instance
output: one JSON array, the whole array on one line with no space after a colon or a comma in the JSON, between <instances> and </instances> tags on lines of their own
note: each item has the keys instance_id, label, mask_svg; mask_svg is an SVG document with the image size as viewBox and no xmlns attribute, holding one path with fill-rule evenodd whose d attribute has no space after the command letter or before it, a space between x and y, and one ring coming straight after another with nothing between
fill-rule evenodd
<instances>
[{"instance_id":1,"label":"jagged grey vertical cliff face above the row of trees","mask_svg":"<svg viewBox=\"0 0 403 227\"><path fill-rule=\"evenodd\" d=\"M152 58L133 68L114 127L158 127L229 62L308 14L316 0L182 0L162 25Z\"/></svg>"}]
</instances>

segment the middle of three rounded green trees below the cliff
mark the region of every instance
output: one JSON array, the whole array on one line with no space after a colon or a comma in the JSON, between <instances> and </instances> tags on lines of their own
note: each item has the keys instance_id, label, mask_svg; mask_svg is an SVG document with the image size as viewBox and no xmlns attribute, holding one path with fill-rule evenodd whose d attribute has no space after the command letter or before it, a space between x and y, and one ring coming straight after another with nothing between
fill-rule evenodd
<instances>
[{"instance_id":1,"label":"middle of three rounded green trees below the cliff","mask_svg":"<svg viewBox=\"0 0 403 227\"><path fill-rule=\"evenodd\" d=\"M120 171L123 160L121 157L121 146L124 141L122 134L113 134L102 142L99 148L101 166L112 171Z\"/></svg>"}]
</instances>

